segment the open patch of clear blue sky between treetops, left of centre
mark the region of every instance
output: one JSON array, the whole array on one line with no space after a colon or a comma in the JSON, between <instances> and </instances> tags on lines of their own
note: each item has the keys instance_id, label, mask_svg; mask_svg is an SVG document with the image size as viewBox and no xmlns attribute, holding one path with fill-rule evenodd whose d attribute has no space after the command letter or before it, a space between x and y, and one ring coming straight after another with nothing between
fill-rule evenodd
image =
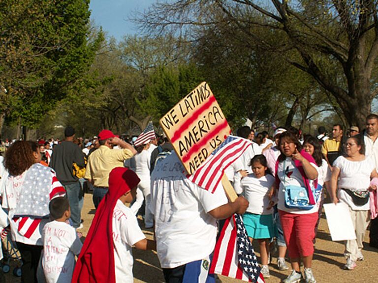
<instances>
[{"instance_id":1,"label":"open patch of clear blue sky between treetops, left of centre","mask_svg":"<svg viewBox=\"0 0 378 283\"><path fill-rule=\"evenodd\" d=\"M119 41L124 35L137 33L135 25L127 20L132 12L143 12L155 2L157 0L91 0L91 19Z\"/></svg>"}]
</instances>

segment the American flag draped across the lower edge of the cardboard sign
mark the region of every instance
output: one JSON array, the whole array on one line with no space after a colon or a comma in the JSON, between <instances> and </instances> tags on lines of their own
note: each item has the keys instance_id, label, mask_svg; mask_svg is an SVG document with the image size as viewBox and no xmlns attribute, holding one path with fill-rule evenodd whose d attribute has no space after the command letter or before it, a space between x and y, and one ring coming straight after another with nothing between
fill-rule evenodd
<instances>
[{"instance_id":1,"label":"American flag draped across the lower edge of the cardboard sign","mask_svg":"<svg viewBox=\"0 0 378 283\"><path fill-rule=\"evenodd\" d=\"M203 189L214 193L224 170L252 146L249 140L228 136L188 178Z\"/></svg>"}]
</instances>

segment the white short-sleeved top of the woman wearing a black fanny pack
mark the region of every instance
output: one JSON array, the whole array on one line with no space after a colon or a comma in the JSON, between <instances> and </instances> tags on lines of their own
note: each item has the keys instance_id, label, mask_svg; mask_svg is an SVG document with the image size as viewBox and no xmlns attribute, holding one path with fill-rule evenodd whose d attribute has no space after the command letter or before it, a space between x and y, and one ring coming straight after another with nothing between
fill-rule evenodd
<instances>
[{"instance_id":1,"label":"white short-sleeved top of the woman wearing a black fanny pack","mask_svg":"<svg viewBox=\"0 0 378 283\"><path fill-rule=\"evenodd\" d=\"M363 161L351 161L344 156L339 156L333 166L340 169L338 188L351 191L366 191L370 186L370 175L376 168L374 160L369 157L366 157ZM344 190L339 190L338 198L347 203L353 210L370 209L369 201L365 205L356 206Z\"/></svg>"}]
</instances>

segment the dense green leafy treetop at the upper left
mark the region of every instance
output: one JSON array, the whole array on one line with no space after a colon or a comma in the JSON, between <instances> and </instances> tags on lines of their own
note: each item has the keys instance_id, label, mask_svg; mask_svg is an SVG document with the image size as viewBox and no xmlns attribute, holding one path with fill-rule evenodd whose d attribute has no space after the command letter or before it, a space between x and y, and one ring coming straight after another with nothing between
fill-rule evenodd
<instances>
[{"instance_id":1,"label":"dense green leafy treetop at the upper left","mask_svg":"<svg viewBox=\"0 0 378 283\"><path fill-rule=\"evenodd\" d=\"M89 17L89 0L1 1L2 117L34 125L74 90L103 40Z\"/></svg>"}]
</instances>

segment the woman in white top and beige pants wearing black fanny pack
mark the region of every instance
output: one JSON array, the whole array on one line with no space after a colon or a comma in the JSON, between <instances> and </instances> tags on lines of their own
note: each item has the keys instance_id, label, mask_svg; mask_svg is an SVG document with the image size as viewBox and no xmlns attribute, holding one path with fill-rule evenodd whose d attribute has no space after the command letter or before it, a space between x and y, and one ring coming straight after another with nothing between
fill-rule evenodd
<instances>
[{"instance_id":1,"label":"woman in white top and beige pants wearing black fanny pack","mask_svg":"<svg viewBox=\"0 0 378 283\"><path fill-rule=\"evenodd\" d=\"M349 207L350 216L356 232L356 239L347 240L344 269L352 270L357 260L363 260L362 241L370 222L369 190L371 178L377 177L374 160L365 157L365 144L360 135L347 139L347 156L339 156L333 163L331 177L331 198L335 204L344 202ZM339 190L337 190L339 189Z\"/></svg>"}]
</instances>

